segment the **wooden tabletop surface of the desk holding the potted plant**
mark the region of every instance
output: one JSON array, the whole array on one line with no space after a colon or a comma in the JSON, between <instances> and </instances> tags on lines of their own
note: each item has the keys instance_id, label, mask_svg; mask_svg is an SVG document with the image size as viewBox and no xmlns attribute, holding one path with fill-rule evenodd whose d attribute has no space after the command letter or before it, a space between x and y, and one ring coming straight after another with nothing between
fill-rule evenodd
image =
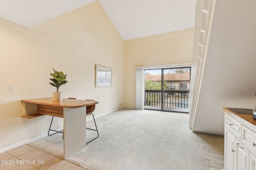
<instances>
[{"instance_id":1,"label":"wooden tabletop surface of the desk holding the potted plant","mask_svg":"<svg viewBox=\"0 0 256 170\"><path fill-rule=\"evenodd\" d=\"M62 101L55 102L55 101L52 101L52 98L28 99L28 100L21 100L21 102L41 104L46 106L67 107L67 108L91 106L99 103L94 100L74 100L74 99L62 99Z\"/></svg>"}]
</instances>

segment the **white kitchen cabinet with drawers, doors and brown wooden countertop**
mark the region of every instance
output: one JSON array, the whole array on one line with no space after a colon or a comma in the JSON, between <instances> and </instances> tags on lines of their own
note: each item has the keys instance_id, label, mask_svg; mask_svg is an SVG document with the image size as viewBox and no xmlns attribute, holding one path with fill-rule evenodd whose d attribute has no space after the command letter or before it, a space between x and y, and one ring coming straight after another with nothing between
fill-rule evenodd
<instances>
[{"instance_id":1,"label":"white kitchen cabinet with drawers, doors and brown wooden countertop","mask_svg":"<svg viewBox=\"0 0 256 170\"><path fill-rule=\"evenodd\" d=\"M224 170L256 170L256 120L252 115L225 111L224 142Z\"/></svg>"}]
</instances>

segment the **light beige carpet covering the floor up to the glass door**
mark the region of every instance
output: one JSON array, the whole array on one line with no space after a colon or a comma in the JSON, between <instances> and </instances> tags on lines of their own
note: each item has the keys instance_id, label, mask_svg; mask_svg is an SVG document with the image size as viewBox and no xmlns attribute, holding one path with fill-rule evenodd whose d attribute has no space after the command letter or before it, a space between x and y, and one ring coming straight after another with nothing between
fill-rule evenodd
<instances>
[{"instance_id":1,"label":"light beige carpet covering the floor up to the glass door","mask_svg":"<svg viewBox=\"0 0 256 170\"><path fill-rule=\"evenodd\" d=\"M98 139L68 161L90 170L224 168L224 137L192 132L186 113L121 109L96 118L96 124ZM88 140L94 135L87 130ZM62 134L29 145L63 158Z\"/></svg>"}]
</instances>

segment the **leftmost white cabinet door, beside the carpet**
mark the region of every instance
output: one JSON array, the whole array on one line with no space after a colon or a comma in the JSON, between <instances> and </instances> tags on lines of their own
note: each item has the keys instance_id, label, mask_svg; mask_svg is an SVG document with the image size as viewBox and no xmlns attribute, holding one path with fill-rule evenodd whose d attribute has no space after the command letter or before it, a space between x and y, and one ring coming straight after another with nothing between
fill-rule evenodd
<instances>
[{"instance_id":1,"label":"leftmost white cabinet door, beside the carpet","mask_svg":"<svg viewBox=\"0 0 256 170\"><path fill-rule=\"evenodd\" d=\"M225 129L224 136L225 148L225 170L234 170L235 166L235 137L228 130Z\"/></svg>"}]
</instances>

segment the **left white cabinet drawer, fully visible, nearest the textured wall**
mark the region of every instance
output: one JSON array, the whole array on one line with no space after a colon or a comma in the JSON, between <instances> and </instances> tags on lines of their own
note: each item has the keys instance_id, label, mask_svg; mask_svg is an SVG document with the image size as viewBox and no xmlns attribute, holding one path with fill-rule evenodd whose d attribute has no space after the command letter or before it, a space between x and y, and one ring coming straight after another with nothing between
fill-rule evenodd
<instances>
[{"instance_id":1,"label":"left white cabinet drawer, fully visible, nearest the textured wall","mask_svg":"<svg viewBox=\"0 0 256 170\"><path fill-rule=\"evenodd\" d=\"M242 123L234 119L228 114L225 114L225 126L232 132L238 139L242 136Z\"/></svg>"}]
</instances>

